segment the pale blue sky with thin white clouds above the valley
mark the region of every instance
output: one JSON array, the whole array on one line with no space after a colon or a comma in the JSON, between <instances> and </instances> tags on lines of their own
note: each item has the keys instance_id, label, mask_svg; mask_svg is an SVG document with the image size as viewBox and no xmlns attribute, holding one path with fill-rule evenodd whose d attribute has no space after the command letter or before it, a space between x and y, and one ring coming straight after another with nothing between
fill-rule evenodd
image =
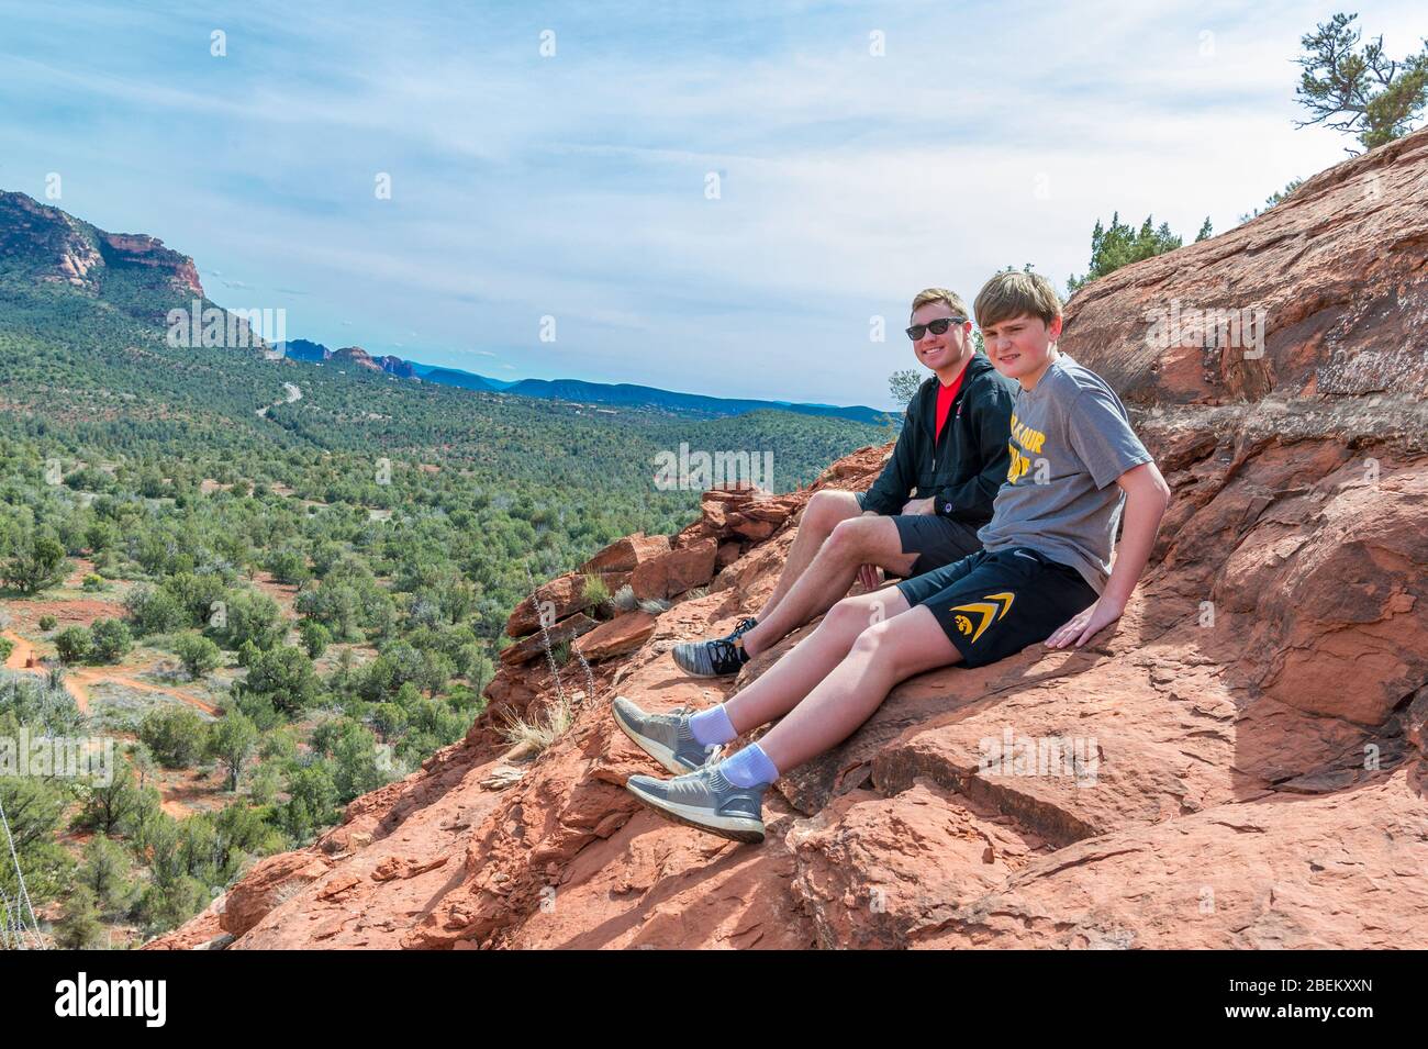
<instances>
[{"instance_id":1,"label":"pale blue sky with thin white clouds above the valley","mask_svg":"<svg viewBox=\"0 0 1428 1049\"><path fill-rule=\"evenodd\" d=\"M59 173L290 337L884 407L917 290L1064 285L1097 217L1224 231L1349 144L1294 127L1334 4L307 7L0 0L0 188ZM1348 10L1394 57L1428 36Z\"/></svg>"}]
</instances>

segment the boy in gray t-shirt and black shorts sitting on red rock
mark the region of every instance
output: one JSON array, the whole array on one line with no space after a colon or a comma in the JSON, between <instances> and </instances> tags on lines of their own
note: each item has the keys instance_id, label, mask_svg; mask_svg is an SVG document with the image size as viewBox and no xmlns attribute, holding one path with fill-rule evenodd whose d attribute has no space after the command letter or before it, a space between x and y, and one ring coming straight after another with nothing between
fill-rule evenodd
<instances>
[{"instance_id":1,"label":"boy in gray t-shirt and black shorts sitting on red rock","mask_svg":"<svg viewBox=\"0 0 1428 1049\"><path fill-rule=\"evenodd\" d=\"M760 842L768 785L843 742L900 681L948 664L981 667L1040 641L1080 647L1125 609L1170 488L1115 392L1057 350L1061 301L1044 277L1000 273L974 311L987 355L1020 384L1011 467L978 531L982 549L840 601L811 637L718 706L645 714L617 696L625 734L684 774L627 781L660 815ZM724 744L778 718L757 744L714 761Z\"/></svg>"}]
</instances>

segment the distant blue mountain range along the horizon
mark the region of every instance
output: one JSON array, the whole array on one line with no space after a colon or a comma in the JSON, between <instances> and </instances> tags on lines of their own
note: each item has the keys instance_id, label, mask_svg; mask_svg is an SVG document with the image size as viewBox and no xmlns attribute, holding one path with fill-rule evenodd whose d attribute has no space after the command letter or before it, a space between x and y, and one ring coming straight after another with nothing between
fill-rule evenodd
<instances>
[{"instance_id":1,"label":"distant blue mountain range along the horizon","mask_svg":"<svg viewBox=\"0 0 1428 1049\"><path fill-rule=\"evenodd\" d=\"M278 343L287 357L296 361L324 363L338 361L368 371L386 371L401 378L418 378L424 382L440 382L464 390L480 390L494 394L516 394L545 401L581 401L585 404L611 404L624 408L655 408L675 414L695 412L700 415L743 415L745 411L778 410L800 415L830 415L857 422L883 422L888 412L861 405L838 407L833 404L794 404L790 401L757 401L730 397L705 397L704 394L680 394L655 387L631 385L628 382L587 382L578 378L521 378L500 380L478 375L460 368L446 368L420 361L406 361L400 357L373 357L361 347L328 350L321 343L293 338Z\"/></svg>"}]
</instances>

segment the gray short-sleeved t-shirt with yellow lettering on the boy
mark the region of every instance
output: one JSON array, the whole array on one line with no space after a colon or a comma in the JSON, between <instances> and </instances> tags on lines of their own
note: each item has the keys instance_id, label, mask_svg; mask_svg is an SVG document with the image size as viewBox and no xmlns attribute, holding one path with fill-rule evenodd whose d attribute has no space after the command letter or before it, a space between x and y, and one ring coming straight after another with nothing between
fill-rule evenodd
<instances>
[{"instance_id":1,"label":"gray short-sleeved t-shirt with yellow lettering on the boy","mask_svg":"<svg viewBox=\"0 0 1428 1049\"><path fill-rule=\"evenodd\" d=\"M1121 398L1061 354L1035 390L1017 392L1010 448L1007 481L977 538L991 552L1031 547L1101 594L1125 500L1115 480L1151 461Z\"/></svg>"}]
</instances>

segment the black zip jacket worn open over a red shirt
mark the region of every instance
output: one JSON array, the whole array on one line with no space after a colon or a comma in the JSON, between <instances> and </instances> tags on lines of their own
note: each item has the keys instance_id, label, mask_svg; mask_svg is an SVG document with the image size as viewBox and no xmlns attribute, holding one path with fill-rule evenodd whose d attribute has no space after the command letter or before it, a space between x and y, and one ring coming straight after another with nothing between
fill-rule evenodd
<instances>
[{"instance_id":1,"label":"black zip jacket worn open over a red shirt","mask_svg":"<svg viewBox=\"0 0 1428 1049\"><path fill-rule=\"evenodd\" d=\"M930 375L908 401L892 458L863 497L863 508L901 514L908 498L931 497L938 517L981 528L991 521L992 500L1011 465L1007 442L1017 384L998 374L985 354L974 354L941 441L934 437L938 385Z\"/></svg>"}]
</instances>

